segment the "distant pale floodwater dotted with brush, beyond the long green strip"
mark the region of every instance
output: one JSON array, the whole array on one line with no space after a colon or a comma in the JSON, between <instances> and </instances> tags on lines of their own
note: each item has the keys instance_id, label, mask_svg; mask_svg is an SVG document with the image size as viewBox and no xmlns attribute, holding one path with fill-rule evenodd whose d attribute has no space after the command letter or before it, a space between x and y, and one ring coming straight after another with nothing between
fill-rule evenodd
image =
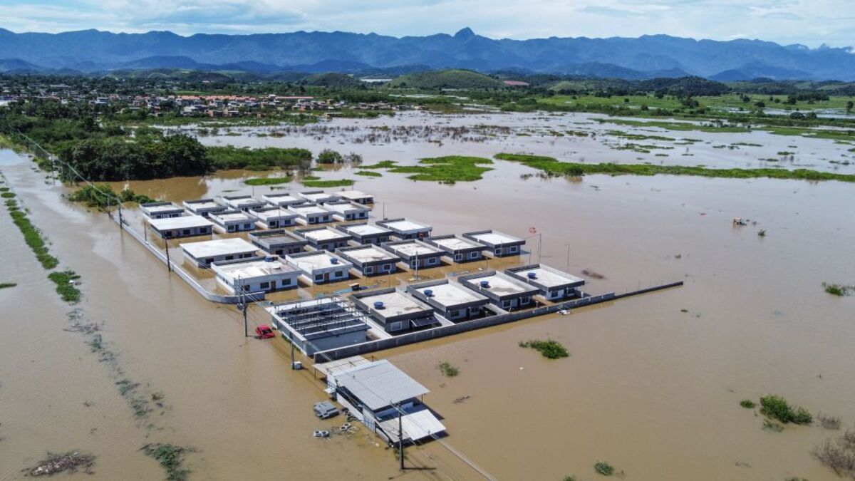
<instances>
[{"instance_id":1,"label":"distant pale floodwater dotted with brush, beyond the long green strip","mask_svg":"<svg viewBox=\"0 0 855 481\"><path fill-rule=\"evenodd\" d=\"M410 111L393 117L336 119L305 126L219 128L215 134L209 130L209 134L200 136L199 140L206 145L303 147L315 153L321 150L319 145L323 145L343 152L354 151L365 158L404 164L422 157L492 157L499 152L510 152L580 163L653 163L704 165L713 169L815 169L855 173L855 153L850 151L855 144L852 143L775 135L763 130L731 134L614 123L621 120L645 122L646 119L542 112L440 117ZM193 126L186 129L196 130ZM666 140L628 139L619 134Z\"/></svg>"}]
</instances>

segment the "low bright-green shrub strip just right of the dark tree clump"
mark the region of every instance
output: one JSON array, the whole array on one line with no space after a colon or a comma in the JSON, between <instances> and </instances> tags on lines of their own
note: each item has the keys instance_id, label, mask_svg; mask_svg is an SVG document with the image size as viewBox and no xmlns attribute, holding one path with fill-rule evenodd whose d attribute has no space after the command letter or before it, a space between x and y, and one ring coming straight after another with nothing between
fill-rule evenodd
<instances>
[{"instance_id":1,"label":"low bright-green shrub strip just right of the dark tree clump","mask_svg":"<svg viewBox=\"0 0 855 481\"><path fill-rule=\"evenodd\" d=\"M208 157L215 169L307 169L312 162L312 152L298 148L216 146L208 147Z\"/></svg>"}]
</instances>

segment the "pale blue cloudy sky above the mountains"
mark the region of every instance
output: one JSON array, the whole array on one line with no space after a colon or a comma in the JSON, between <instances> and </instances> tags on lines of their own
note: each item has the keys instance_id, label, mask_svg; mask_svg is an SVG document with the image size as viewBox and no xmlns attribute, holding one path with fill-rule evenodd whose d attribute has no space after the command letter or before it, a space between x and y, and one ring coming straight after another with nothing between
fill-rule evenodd
<instances>
[{"instance_id":1,"label":"pale blue cloudy sky above the mountains","mask_svg":"<svg viewBox=\"0 0 855 481\"><path fill-rule=\"evenodd\" d=\"M0 0L13 32L341 30L427 35L471 27L492 38L764 39L855 45L855 0Z\"/></svg>"}]
</instances>

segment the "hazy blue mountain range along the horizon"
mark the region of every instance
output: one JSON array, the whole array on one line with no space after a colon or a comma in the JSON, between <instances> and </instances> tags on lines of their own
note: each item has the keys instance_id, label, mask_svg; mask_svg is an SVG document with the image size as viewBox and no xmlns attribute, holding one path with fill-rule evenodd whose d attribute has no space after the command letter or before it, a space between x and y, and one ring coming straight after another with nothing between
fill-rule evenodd
<instances>
[{"instance_id":1,"label":"hazy blue mountain range along the horizon","mask_svg":"<svg viewBox=\"0 0 855 481\"><path fill-rule=\"evenodd\" d=\"M407 73L434 68L481 72L577 74L624 79L698 75L855 80L850 48L778 45L762 40L696 40L668 35L608 39L489 39L463 28L454 35L390 37L376 33L294 32L225 35L171 32L13 33L0 28L0 72L105 73L187 68L274 72Z\"/></svg>"}]
</instances>

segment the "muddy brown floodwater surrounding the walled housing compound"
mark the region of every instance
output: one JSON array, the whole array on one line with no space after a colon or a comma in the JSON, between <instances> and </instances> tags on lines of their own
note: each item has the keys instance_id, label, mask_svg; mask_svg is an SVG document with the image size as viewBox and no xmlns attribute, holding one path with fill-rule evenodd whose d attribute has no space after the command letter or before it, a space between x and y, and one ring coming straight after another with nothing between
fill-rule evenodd
<instances>
[{"instance_id":1,"label":"muddy brown floodwater surrounding the walled housing compound","mask_svg":"<svg viewBox=\"0 0 855 481\"><path fill-rule=\"evenodd\" d=\"M228 141L294 145L270 137ZM422 144L399 146L412 149L412 158L436 149ZM311 143L313 151L364 149L366 163L392 156L391 145L336 145ZM453 153L486 155L481 143L461 145ZM547 152L544 145L540 153ZM444 417L445 442L499 479L593 479L596 460L640 480L837 479L811 456L835 431L764 431L762 418L739 401L778 394L812 413L840 416L846 427L855 422L855 298L822 288L855 284L851 185L663 175L523 180L531 169L494 167L482 181L454 186L385 173L359 179L356 188L376 196L375 217L383 210L412 217L436 234L492 228L527 236L534 227L543 247L539 253L537 239L529 241L532 260L576 274L598 271L605 278L588 279L593 294L686 285L375 353L431 390L425 401ZM188 455L194 478L398 476L392 452L364 433L311 438L329 425L311 414L322 386L310 371L288 369L284 341L245 340L233 306L204 301L104 214L62 200L62 187L45 183L30 163L0 169L62 265L83 276L80 307L105 323L104 340L127 377L164 393L169 406L152 418L154 428L133 418L80 335L62 330L69 308L4 213L0 279L19 286L0 290L0 478L20 477L47 450L75 448L98 455L94 478L161 478L136 450L146 442L197 448ZM176 201L270 192L245 186L248 175L129 184ZM322 175L354 178L346 168ZM734 228L733 217L757 224ZM545 337L563 342L571 356L548 360L517 346ZM442 361L460 375L442 377ZM410 462L433 469L403 478L479 478L438 442L413 450Z\"/></svg>"}]
</instances>

